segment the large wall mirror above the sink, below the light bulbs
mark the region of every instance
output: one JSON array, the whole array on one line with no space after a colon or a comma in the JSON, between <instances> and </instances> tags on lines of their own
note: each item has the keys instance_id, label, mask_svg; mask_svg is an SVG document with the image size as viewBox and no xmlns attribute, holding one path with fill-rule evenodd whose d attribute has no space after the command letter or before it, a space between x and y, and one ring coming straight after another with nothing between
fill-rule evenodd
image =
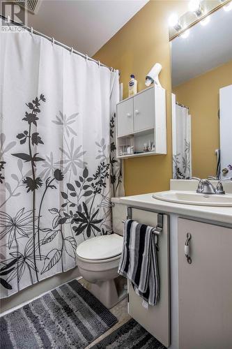
<instances>
[{"instance_id":1,"label":"large wall mirror above the sink, below the light bulbs","mask_svg":"<svg viewBox=\"0 0 232 349\"><path fill-rule=\"evenodd\" d=\"M232 177L232 10L171 41L173 178Z\"/></svg>"}]
</instances>

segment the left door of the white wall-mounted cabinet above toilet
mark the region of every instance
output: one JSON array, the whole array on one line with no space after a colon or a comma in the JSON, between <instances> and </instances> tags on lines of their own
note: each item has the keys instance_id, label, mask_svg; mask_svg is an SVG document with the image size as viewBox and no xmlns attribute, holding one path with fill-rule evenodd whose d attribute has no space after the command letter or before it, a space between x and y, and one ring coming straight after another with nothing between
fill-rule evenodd
<instances>
[{"instance_id":1,"label":"left door of the white wall-mounted cabinet above toilet","mask_svg":"<svg viewBox=\"0 0 232 349\"><path fill-rule=\"evenodd\" d=\"M117 105L118 137L133 133L133 98Z\"/></svg>"}]
</instances>

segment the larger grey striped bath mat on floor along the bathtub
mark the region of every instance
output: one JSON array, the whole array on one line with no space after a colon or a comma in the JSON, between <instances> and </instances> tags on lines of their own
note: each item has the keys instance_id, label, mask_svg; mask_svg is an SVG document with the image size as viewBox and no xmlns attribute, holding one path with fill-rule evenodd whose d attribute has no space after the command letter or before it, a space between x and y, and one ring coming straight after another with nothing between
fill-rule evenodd
<instances>
[{"instance_id":1,"label":"larger grey striped bath mat on floor along the bathtub","mask_svg":"<svg viewBox=\"0 0 232 349\"><path fill-rule=\"evenodd\" d=\"M77 280L0 318L4 349L85 348L117 318Z\"/></svg>"}]
</instances>

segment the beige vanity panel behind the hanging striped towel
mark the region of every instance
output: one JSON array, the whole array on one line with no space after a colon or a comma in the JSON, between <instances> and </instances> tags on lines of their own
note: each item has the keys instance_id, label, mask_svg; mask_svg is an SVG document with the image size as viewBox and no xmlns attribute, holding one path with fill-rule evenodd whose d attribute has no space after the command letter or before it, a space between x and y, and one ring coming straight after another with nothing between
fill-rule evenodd
<instances>
[{"instance_id":1,"label":"beige vanity panel behind the hanging striped towel","mask_svg":"<svg viewBox=\"0 0 232 349\"><path fill-rule=\"evenodd\" d=\"M132 219L155 227L157 214L155 212L132 209ZM150 334L155 336L164 346L170 344L170 303L169 303L169 227L168 216L163 215L163 230L158 238L160 251L158 252L160 274L160 300L155 306L144 308L139 297L128 283L128 313L139 322Z\"/></svg>"}]
</instances>

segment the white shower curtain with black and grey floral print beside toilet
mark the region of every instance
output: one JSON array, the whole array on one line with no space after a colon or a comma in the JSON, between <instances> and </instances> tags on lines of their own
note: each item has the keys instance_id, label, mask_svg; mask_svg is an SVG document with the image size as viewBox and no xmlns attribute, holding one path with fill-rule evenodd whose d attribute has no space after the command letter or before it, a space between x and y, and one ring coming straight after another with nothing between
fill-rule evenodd
<instances>
[{"instance_id":1,"label":"white shower curtain with black and grey floral print beside toilet","mask_svg":"<svg viewBox=\"0 0 232 349\"><path fill-rule=\"evenodd\" d=\"M28 31L1 35L1 298L75 267L112 232L118 71Z\"/></svg>"}]
</instances>

